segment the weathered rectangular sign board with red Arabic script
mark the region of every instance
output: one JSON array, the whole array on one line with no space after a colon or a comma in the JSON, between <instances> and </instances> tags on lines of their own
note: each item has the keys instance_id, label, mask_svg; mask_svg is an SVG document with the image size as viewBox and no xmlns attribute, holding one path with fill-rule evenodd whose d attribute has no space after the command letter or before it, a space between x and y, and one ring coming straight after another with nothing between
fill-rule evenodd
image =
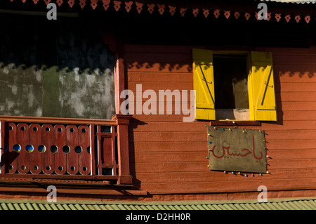
<instances>
[{"instance_id":1,"label":"weathered rectangular sign board with red Arabic script","mask_svg":"<svg viewBox=\"0 0 316 224\"><path fill-rule=\"evenodd\" d=\"M209 168L214 171L265 173L265 133L262 130L208 126Z\"/></svg>"}]
</instances>

